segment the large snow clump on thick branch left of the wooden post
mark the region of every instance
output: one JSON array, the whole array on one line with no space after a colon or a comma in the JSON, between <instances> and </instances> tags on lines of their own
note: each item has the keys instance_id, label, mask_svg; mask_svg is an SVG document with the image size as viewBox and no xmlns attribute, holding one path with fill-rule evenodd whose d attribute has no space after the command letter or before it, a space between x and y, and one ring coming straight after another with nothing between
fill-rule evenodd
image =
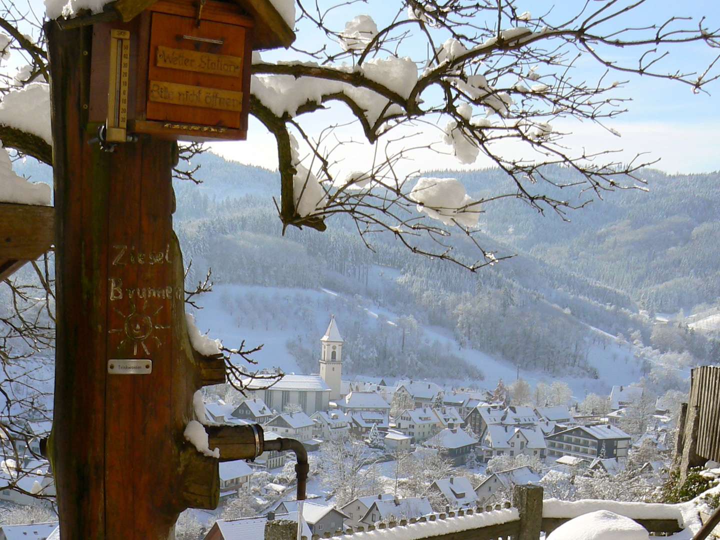
<instances>
[{"instance_id":1,"label":"large snow clump on thick branch left of the wooden post","mask_svg":"<svg viewBox=\"0 0 720 540\"><path fill-rule=\"evenodd\" d=\"M51 144L50 86L31 83L5 94L0 102L0 125L27 131Z\"/></svg>"}]
</instances>

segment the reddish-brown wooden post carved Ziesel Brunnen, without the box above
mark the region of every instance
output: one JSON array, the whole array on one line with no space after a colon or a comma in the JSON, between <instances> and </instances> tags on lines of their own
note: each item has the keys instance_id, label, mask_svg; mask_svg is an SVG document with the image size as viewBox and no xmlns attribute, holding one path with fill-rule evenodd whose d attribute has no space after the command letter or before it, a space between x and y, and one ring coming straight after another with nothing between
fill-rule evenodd
<instances>
[{"instance_id":1,"label":"reddish-brown wooden post carved Ziesel Brunnen, without the box above","mask_svg":"<svg viewBox=\"0 0 720 540\"><path fill-rule=\"evenodd\" d=\"M217 359L199 357L187 335L176 144L145 138L112 153L89 144L92 28L49 22L45 32L57 251L48 454L60 534L168 540L182 510L214 508L219 495L217 459L183 436L192 395L208 382L201 364Z\"/></svg>"}]
</instances>

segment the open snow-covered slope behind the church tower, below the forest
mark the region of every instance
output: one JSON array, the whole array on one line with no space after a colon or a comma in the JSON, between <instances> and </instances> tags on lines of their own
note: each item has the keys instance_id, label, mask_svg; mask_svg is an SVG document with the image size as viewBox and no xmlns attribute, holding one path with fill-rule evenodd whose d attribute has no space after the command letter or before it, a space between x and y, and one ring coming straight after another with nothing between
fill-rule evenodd
<instances>
[{"instance_id":1,"label":"open snow-covered slope behind the church tower, below the forest","mask_svg":"<svg viewBox=\"0 0 720 540\"><path fill-rule=\"evenodd\" d=\"M373 276L374 279L393 279L392 270L385 269L384 276ZM248 298L251 300L248 305ZM239 299L239 300L238 300ZM258 287L250 285L216 285L212 292L204 294L199 305L204 309L194 312L197 325L201 331L210 330L210 337L220 338L226 346L238 346L243 340L246 348L263 344L263 349L254 355L258 361L258 369L279 367L286 373L300 373L295 359L289 354L286 343L295 336L307 333L308 328L325 328L333 313L333 306L339 301L348 300L338 292L329 289L288 289L278 287ZM356 296L352 299L365 310L369 318L379 316L394 325L397 314L367 300ZM259 308L264 304L287 305L290 307L302 304L305 316L301 320L288 320L282 325L262 319ZM338 320L343 330L343 321ZM598 370L598 379L590 377L562 379L570 385L575 397L582 400L590 392L608 394L613 384L630 384L636 382L641 374L634 361L631 346L620 345L613 336L593 329L593 343L590 344L588 359ZM516 366L503 359L495 358L474 348L460 347L457 341L444 328L423 326L424 338L428 341L444 343L448 350L461 356L469 364L477 366L485 380L479 382L483 387L495 387L498 379L511 382L516 379ZM320 351L318 338L318 354ZM318 368L319 369L319 368ZM531 385L538 382L552 383L559 377L549 377L544 373L520 370L520 377ZM382 374L377 374L382 375ZM408 374L410 375L410 374ZM438 384L468 384L472 381L453 379L451 374L436 379Z\"/></svg>"}]
</instances>

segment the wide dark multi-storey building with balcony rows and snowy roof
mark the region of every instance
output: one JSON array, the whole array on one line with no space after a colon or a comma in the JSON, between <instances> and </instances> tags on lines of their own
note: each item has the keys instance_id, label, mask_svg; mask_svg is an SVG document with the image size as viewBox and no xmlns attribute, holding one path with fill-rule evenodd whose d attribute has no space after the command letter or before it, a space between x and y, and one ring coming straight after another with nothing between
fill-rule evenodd
<instances>
[{"instance_id":1,"label":"wide dark multi-storey building with balcony rows and snowy roof","mask_svg":"<svg viewBox=\"0 0 720 540\"><path fill-rule=\"evenodd\" d=\"M563 455L583 458L626 457L631 436L610 424L574 426L546 437L551 457Z\"/></svg>"}]
</instances>

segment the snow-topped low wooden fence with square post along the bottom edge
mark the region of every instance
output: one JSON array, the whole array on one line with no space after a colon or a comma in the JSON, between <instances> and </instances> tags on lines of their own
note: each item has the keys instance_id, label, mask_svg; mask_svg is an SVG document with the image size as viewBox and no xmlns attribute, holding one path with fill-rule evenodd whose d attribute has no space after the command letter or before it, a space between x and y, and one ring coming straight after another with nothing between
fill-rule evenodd
<instances>
[{"instance_id":1,"label":"snow-topped low wooden fence with square post along the bottom edge","mask_svg":"<svg viewBox=\"0 0 720 540\"><path fill-rule=\"evenodd\" d=\"M302 540L539 540L541 531L551 533L570 519L593 510L611 510L621 513L640 523L654 536L666 536L682 530L680 510L678 518L667 518L669 508L674 505L628 505L615 501L592 501L590 504L574 506L575 503L557 501L553 508L544 508L543 489L539 486L516 486L513 503L451 510L421 518L400 519L377 523L374 526L348 528L346 531L327 532L323 536L313 534L312 539ZM603 508L604 507L604 508ZM582 509L585 509L583 511ZM640 508L641 510L638 510ZM545 514L545 515L544 515ZM294 540L297 523L292 521L269 521L265 529L265 540Z\"/></svg>"}]
</instances>

